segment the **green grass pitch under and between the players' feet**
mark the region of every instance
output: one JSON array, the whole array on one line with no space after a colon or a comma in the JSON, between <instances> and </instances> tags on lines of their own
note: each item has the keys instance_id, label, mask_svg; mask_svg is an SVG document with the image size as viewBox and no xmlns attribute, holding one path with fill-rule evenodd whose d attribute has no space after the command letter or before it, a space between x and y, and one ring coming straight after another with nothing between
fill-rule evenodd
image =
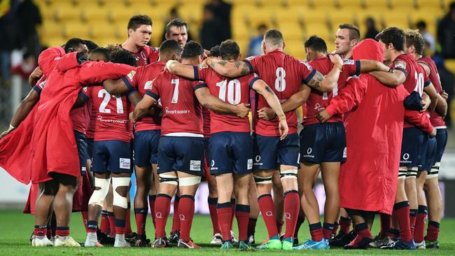
<instances>
[{"instance_id":1,"label":"green grass pitch under and between the players' feet","mask_svg":"<svg viewBox=\"0 0 455 256\"><path fill-rule=\"evenodd\" d=\"M169 219L171 220L171 219ZM172 221L172 220L171 220ZM373 232L377 233L379 221L376 222ZM34 226L34 218L31 215L22 214L22 211L0 211L0 255L455 255L455 219L444 219L441 227L440 250L419 251L390 251L390 250L343 250L331 249L328 251L292 251L281 250L255 250L253 252L240 252L238 250L221 251L218 247L209 246L211 240L211 222L209 216L197 215L193 221L191 236L195 243L203 248L200 250L184 250L177 248L153 249L153 248L32 248L29 237ZM132 223L134 217L132 216ZM168 229L170 222L168 221ZM236 224L235 224L236 225ZM135 226L133 225L133 229ZM153 236L151 219L147 222L147 234ZM71 220L71 236L78 242L85 241L85 230L82 225L80 213L73 213ZM256 242L265 239L266 232L264 222L260 218L256 226ZM309 238L306 223L300 229L299 239L303 241Z\"/></svg>"}]
</instances>

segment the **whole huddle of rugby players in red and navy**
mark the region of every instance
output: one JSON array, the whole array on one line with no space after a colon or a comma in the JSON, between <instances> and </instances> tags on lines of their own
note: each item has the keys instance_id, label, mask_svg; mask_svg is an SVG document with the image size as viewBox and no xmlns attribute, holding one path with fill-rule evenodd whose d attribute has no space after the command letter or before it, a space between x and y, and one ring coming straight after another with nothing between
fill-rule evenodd
<instances>
[{"instance_id":1,"label":"whole huddle of rugby players in red and navy","mask_svg":"<svg viewBox=\"0 0 455 256\"><path fill-rule=\"evenodd\" d=\"M262 55L246 59L232 40L209 50L187 42L180 19L167 24L160 48L147 45L148 16L133 16L127 29L121 45L71 38L44 50L1 134L0 166L33 183L32 246L80 246L69 222L81 211L83 246L200 248L190 231L207 180L210 243L223 250L253 249L259 213L268 238L257 249L439 248L447 94L418 31L388 27L360 41L357 27L340 24L335 51L311 36L302 61L283 52L276 29L265 33ZM311 239L300 244L305 218Z\"/></svg>"}]
</instances>

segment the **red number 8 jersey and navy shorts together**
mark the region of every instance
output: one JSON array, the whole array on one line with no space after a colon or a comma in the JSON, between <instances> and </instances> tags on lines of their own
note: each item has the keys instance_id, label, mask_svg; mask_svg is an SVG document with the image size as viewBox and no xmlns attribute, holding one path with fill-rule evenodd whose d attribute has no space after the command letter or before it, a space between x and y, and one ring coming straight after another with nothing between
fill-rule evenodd
<instances>
[{"instance_id":1,"label":"red number 8 jersey and navy shorts together","mask_svg":"<svg viewBox=\"0 0 455 256\"><path fill-rule=\"evenodd\" d=\"M280 50L274 50L266 55L248 57L246 64L251 73L257 73L262 80L272 88L276 97L283 103L296 92L300 91L302 83L309 83L316 70L307 62L286 55ZM253 108L260 110L269 107L264 97L256 97ZM286 114L289 133L283 141L279 138L279 119L253 119L254 166L256 169L276 169L279 164L300 166L299 137L297 135L297 114L289 111ZM255 116L255 115L253 115Z\"/></svg>"}]
</instances>

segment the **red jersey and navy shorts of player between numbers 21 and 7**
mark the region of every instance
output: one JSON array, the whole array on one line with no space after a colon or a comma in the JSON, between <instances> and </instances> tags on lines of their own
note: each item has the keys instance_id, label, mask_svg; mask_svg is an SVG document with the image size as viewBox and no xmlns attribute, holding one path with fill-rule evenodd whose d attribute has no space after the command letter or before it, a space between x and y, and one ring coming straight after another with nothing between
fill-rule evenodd
<instances>
[{"instance_id":1,"label":"red jersey and navy shorts of player between numbers 21 and 7","mask_svg":"<svg viewBox=\"0 0 455 256\"><path fill-rule=\"evenodd\" d=\"M142 97L151 89L152 81L165 69L165 62L154 62L138 66L132 73L123 78L130 90L137 89ZM158 101L155 104L155 115L145 116L134 124L134 164L150 166L158 162L158 142L160 141L161 116Z\"/></svg>"}]
</instances>

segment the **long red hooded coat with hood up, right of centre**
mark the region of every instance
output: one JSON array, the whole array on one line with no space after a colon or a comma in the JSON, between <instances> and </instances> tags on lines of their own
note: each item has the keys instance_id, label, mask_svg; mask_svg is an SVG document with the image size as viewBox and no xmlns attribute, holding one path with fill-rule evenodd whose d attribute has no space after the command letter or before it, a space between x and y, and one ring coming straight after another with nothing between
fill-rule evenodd
<instances>
[{"instance_id":1,"label":"long red hooded coat with hood up, right of centre","mask_svg":"<svg viewBox=\"0 0 455 256\"><path fill-rule=\"evenodd\" d=\"M382 62L382 48L372 39L353 48L354 59ZM351 78L326 111L347 113L347 161L339 176L340 206L391 214L398 180L403 117L413 125L433 130L425 114L405 111L408 93L403 87L386 87L369 74Z\"/></svg>"}]
</instances>

